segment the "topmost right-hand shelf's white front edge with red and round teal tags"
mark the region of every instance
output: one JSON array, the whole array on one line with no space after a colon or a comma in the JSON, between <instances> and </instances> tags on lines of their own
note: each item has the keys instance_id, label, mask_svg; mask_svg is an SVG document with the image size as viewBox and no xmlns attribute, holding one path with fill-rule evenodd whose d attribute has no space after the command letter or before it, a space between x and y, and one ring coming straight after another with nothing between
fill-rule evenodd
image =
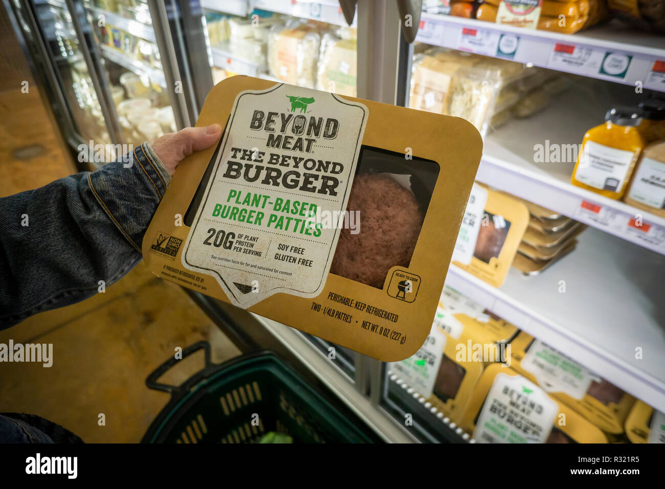
<instances>
[{"instance_id":1,"label":"topmost right-hand shelf's white front edge with red and round teal tags","mask_svg":"<svg viewBox=\"0 0 665 489\"><path fill-rule=\"evenodd\" d=\"M618 23L569 35L423 13L416 41L665 92L663 37Z\"/></svg>"}]
</instances>

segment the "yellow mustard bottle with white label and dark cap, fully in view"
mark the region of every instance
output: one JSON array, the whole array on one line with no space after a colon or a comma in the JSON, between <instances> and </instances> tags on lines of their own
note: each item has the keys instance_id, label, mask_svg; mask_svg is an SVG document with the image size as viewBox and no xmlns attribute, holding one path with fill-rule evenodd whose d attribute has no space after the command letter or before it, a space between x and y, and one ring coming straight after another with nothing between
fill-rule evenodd
<instances>
[{"instance_id":1,"label":"yellow mustard bottle with white label and dark cap, fully in view","mask_svg":"<svg viewBox=\"0 0 665 489\"><path fill-rule=\"evenodd\" d=\"M633 108L608 110L605 123L584 135L571 183L610 199L620 199L644 149L644 138L637 129L641 122L640 112Z\"/></svg>"}]
</instances>

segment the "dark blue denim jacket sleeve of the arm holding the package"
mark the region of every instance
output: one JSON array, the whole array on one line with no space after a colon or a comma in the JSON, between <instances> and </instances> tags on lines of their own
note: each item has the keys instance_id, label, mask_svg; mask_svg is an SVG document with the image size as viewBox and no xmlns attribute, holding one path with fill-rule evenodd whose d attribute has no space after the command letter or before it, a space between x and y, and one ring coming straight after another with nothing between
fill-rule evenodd
<instances>
[{"instance_id":1,"label":"dark blue denim jacket sleeve of the arm holding the package","mask_svg":"<svg viewBox=\"0 0 665 489\"><path fill-rule=\"evenodd\" d=\"M149 144L0 198L0 329L98 292L141 259L170 175Z\"/></svg>"}]
</instances>

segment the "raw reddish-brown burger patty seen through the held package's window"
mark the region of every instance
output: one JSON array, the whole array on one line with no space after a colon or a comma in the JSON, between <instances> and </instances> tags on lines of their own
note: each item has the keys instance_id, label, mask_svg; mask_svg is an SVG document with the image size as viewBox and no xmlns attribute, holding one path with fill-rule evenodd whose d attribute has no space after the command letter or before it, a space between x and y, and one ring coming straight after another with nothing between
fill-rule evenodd
<instances>
[{"instance_id":1,"label":"raw reddish-brown burger patty seen through the held package's window","mask_svg":"<svg viewBox=\"0 0 665 489\"><path fill-rule=\"evenodd\" d=\"M360 232L342 229L331 273L381 289L390 268L411 260L423 220L418 202L386 176L358 175L346 208L360 211Z\"/></svg>"}]
</instances>

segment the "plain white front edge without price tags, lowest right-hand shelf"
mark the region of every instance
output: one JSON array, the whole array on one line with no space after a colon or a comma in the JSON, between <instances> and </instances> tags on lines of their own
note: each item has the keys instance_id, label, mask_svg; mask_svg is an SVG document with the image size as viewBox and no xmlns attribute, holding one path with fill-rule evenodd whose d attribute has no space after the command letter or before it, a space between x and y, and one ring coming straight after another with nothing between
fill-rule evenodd
<instances>
[{"instance_id":1,"label":"plain white front edge without price tags, lowest right-hand shelf","mask_svg":"<svg viewBox=\"0 0 665 489\"><path fill-rule=\"evenodd\" d=\"M659 410L665 410L665 383L621 359L614 358L598 345L575 335L553 319L533 311L529 305L521 303L519 299L510 297L501 289L485 283L456 265L450 265L446 285L484 305L505 321L513 323L518 329L565 352L571 359L591 371L600 373L604 379L634 397Z\"/></svg>"}]
</instances>

